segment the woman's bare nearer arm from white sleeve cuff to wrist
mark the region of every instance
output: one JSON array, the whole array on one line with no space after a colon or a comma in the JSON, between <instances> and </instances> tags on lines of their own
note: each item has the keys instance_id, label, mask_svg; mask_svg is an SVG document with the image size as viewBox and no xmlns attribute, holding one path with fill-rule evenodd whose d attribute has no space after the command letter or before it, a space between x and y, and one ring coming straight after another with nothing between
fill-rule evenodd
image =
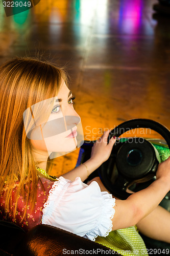
<instances>
[{"instance_id":1,"label":"woman's bare nearer arm from white sleeve cuff to wrist","mask_svg":"<svg viewBox=\"0 0 170 256\"><path fill-rule=\"evenodd\" d=\"M129 196L128 199L116 200L112 230L136 225L156 208L169 189L169 182L159 178L149 187Z\"/></svg>"}]
</instances>

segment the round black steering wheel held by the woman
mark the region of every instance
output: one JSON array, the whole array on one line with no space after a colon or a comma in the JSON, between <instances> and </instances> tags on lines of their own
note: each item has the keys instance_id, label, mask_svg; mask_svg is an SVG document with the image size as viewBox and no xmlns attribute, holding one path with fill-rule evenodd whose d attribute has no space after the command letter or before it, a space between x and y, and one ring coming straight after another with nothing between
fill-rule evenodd
<instances>
[{"instance_id":1,"label":"round black steering wheel held by the woman","mask_svg":"<svg viewBox=\"0 0 170 256\"><path fill-rule=\"evenodd\" d=\"M116 126L108 136L120 135L137 128L147 128L159 133L170 148L170 131L162 124L150 119L132 119ZM127 187L134 182L150 180L156 174L159 164L159 153L148 140L142 137L127 138L116 142L109 159L98 169L105 187L115 197L125 200L131 194ZM115 168L116 166L116 168Z\"/></svg>"}]
</instances>

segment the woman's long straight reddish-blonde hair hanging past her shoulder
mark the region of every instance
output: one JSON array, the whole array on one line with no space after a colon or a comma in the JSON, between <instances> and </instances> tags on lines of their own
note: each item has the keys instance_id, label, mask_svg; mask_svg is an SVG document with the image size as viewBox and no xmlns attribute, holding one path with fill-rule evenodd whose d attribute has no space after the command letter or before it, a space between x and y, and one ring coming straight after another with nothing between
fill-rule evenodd
<instances>
[{"instance_id":1,"label":"woman's long straight reddish-blonde hair hanging past her shoulder","mask_svg":"<svg viewBox=\"0 0 170 256\"><path fill-rule=\"evenodd\" d=\"M23 112L37 102L55 97L62 79L67 84L62 69L29 57L11 59L0 67L0 193L3 194L5 186L3 197L6 201L6 215L12 218L16 216L18 197L22 196L26 208L21 221L26 218L29 202L31 209L34 208L40 176L36 170L35 165L38 163L34 160L30 139L26 135ZM38 122L47 121L52 108L53 102L45 109L45 113L43 109L38 109ZM52 162L53 159L48 161L47 170ZM16 181L18 184L13 207L11 197Z\"/></svg>"}]
</instances>

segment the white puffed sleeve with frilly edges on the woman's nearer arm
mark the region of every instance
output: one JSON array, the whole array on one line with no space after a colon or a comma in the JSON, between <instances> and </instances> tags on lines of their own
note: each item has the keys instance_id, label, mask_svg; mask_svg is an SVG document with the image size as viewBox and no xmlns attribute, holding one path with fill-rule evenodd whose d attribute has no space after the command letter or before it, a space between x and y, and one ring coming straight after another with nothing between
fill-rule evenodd
<instances>
[{"instance_id":1,"label":"white puffed sleeve with frilly edges on the woman's nearer arm","mask_svg":"<svg viewBox=\"0 0 170 256\"><path fill-rule=\"evenodd\" d=\"M43 205L42 224L56 226L95 241L112 230L115 199L101 192L96 181L90 185L80 177L74 181L62 176L55 181Z\"/></svg>"}]
</instances>

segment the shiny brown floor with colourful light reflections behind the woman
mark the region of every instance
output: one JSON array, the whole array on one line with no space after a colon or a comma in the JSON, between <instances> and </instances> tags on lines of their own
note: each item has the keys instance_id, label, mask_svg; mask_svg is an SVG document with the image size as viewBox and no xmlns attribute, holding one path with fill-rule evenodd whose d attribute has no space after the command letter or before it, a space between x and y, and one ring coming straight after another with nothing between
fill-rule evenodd
<instances>
[{"instance_id":1,"label":"shiny brown floor with colourful light reflections behind the woman","mask_svg":"<svg viewBox=\"0 0 170 256\"><path fill-rule=\"evenodd\" d=\"M39 55L66 65L85 140L133 118L170 129L170 17L155 15L155 3L41 0L6 17L0 2L0 62ZM56 158L51 175L74 168L78 154Z\"/></svg>"}]
</instances>

